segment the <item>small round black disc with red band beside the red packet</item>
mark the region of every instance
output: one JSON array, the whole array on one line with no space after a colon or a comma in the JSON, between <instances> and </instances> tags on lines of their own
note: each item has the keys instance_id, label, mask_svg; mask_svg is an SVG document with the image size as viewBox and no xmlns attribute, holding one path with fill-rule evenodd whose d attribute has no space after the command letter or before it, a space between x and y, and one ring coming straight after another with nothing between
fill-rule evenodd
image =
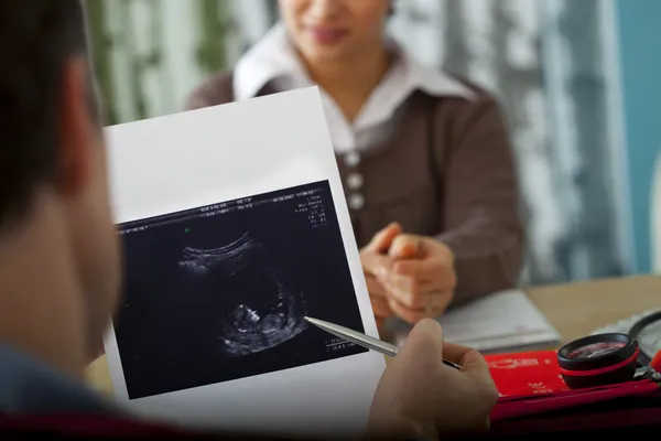
<instances>
[{"instance_id":1,"label":"small round black disc with red band beside the red packet","mask_svg":"<svg viewBox=\"0 0 661 441\"><path fill-rule=\"evenodd\" d=\"M557 364L572 389L630 381L636 376L640 348L628 334L589 335L557 352Z\"/></svg>"}]
</instances>

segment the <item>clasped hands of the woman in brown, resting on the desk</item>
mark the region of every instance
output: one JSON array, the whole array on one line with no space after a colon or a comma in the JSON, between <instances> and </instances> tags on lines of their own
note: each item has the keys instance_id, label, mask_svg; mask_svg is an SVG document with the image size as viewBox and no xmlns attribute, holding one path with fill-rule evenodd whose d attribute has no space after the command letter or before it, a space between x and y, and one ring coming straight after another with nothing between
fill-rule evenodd
<instances>
[{"instance_id":1,"label":"clasped hands of the woman in brown, resting on the desk","mask_svg":"<svg viewBox=\"0 0 661 441\"><path fill-rule=\"evenodd\" d=\"M378 319L389 312L418 323L443 314L454 298L454 256L434 238L403 234L392 224L364 249L361 261Z\"/></svg>"}]
</instances>

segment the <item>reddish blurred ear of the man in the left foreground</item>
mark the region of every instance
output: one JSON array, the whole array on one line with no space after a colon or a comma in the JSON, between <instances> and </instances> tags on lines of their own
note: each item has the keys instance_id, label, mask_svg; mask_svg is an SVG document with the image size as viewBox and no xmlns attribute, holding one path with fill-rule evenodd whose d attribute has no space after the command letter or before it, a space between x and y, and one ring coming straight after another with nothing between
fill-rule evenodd
<instances>
[{"instance_id":1,"label":"reddish blurred ear of the man in the left foreground","mask_svg":"<svg viewBox=\"0 0 661 441\"><path fill-rule=\"evenodd\" d=\"M89 108L89 71L84 56L73 56L62 75L57 111L57 190L65 196L85 191L93 176L98 123Z\"/></svg>"}]
</instances>

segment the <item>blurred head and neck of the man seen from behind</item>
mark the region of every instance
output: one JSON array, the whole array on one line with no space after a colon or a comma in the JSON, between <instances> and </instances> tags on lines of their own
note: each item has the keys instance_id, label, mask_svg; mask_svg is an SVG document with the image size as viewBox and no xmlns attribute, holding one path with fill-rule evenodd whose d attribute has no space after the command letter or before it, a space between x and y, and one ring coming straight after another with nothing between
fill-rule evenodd
<instances>
[{"instance_id":1,"label":"blurred head and neck of the man seen from behind","mask_svg":"<svg viewBox=\"0 0 661 441\"><path fill-rule=\"evenodd\" d=\"M0 2L0 343L69 370L120 276L86 43L80 0Z\"/></svg>"}]
</instances>

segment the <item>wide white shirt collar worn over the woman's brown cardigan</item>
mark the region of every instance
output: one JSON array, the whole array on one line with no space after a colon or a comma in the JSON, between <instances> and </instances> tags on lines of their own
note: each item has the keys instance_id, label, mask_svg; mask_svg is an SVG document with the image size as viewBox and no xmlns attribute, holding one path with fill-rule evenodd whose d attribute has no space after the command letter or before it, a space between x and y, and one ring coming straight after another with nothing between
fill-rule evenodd
<instances>
[{"instance_id":1,"label":"wide white shirt collar worn over the woman's brown cardigan","mask_svg":"<svg viewBox=\"0 0 661 441\"><path fill-rule=\"evenodd\" d=\"M356 161L362 149L372 144L397 109L416 89L432 96L453 96L472 100L473 90L453 77L427 68L391 41L398 52L397 63L372 92L360 114L349 122L333 98L321 90L334 149ZM272 82L279 92L313 86L300 62L286 30L275 24L237 63L234 71L235 99L253 98ZM353 154L351 154L353 153Z\"/></svg>"}]
</instances>

